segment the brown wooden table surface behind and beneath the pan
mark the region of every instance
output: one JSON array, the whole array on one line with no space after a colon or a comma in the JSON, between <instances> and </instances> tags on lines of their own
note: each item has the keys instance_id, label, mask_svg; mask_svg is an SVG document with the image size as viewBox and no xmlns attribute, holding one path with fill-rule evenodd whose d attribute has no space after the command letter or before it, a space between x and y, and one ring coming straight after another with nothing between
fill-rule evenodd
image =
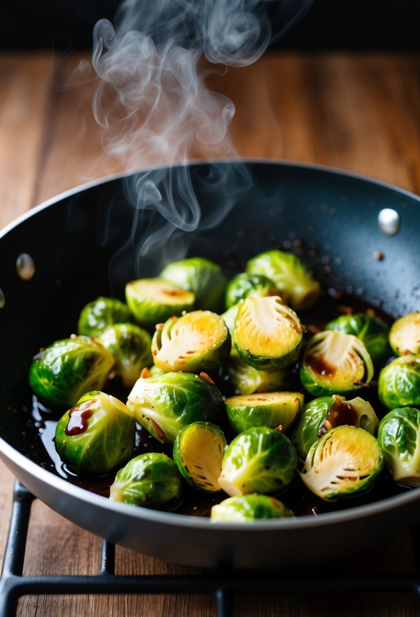
<instances>
[{"instance_id":1,"label":"brown wooden table surface behind and beneath the pan","mask_svg":"<svg viewBox=\"0 0 420 617\"><path fill-rule=\"evenodd\" d=\"M92 85L57 89L79 57L57 69L49 53L0 56L0 228L48 197L121 169L105 157L92 119ZM232 98L232 138L239 155L331 165L420 193L420 57L397 54L267 54L248 68L212 77ZM1 265L0 265L1 267ZM14 478L0 465L0 557ZM36 501L25 574L95 573L100 540ZM175 566L117 547L118 573L182 573ZM413 567L408 532L345 560L350 570ZM40 596L20 600L19 615L214 615L212 597ZM408 594L237 597L235 615L284 617L416 615Z\"/></svg>"}]
</instances>

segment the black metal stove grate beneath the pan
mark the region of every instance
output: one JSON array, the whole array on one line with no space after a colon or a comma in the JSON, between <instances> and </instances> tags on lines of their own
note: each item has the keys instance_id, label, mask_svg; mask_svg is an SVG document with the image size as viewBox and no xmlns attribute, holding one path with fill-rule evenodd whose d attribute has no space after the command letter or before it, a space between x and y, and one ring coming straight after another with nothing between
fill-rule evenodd
<instances>
[{"instance_id":1,"label":"black metal stove grate beneath the pan","mask_svg":"<svg viewBox=\"0 0 420 617\"><path fill-rule=\"evenodd\" d=\"M0 617L16 614L23 595L49 594L200 594L216 598L217 617L233 611L233 594L269 592L310 592L320 589L325 574L286 574L248 571L219 571L212 574L178 576L167 574L115 574L115 545L103 540L99 573L94 576L23 576L26 537L35 499L20 482L15 482L9 536L0 579ZM420 528L411 531L416 569L413 572L328 574L337 592L412 592L420 610Z\"/></svg>"}]
</instances>

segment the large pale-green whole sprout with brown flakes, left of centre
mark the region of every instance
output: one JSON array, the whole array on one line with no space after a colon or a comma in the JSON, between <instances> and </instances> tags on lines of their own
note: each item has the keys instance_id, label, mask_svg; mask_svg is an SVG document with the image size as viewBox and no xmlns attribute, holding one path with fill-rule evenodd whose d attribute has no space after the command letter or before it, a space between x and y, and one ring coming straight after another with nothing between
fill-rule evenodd
<instances>
[{"instance_id":1,"label":"large pale-green whole sprout with brown flakes, left of centre","mask_svg":"<svg viewBox=\"0 0 420 617\"><path fill-rule=\"evenodd\" d=\"M192 373L164 373L137 379L127 406L135 419L161 443L200 420L218 423L224 402L214 384Z\"/></svg>"}]
</instances>

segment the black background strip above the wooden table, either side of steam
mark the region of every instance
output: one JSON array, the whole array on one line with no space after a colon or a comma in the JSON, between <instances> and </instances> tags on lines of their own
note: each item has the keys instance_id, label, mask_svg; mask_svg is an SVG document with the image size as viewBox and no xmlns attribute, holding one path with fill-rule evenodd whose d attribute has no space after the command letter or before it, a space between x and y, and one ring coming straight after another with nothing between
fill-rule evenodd
<instances>
[{"instance_id":1,"label":"black background strip above the wooden table, either side of steam","mask_svg":"<svg viewBox=\"0 0 420 617\"><path fill-rule=\"evenodd\" d=\"M119 0L3 3L1 48L70 50L91 48L95 22L101 17L112 21ZM301 22L275 47L415 51L420 43L419 18L420 0L314 0Z\"/></svg>"}]
</instances>

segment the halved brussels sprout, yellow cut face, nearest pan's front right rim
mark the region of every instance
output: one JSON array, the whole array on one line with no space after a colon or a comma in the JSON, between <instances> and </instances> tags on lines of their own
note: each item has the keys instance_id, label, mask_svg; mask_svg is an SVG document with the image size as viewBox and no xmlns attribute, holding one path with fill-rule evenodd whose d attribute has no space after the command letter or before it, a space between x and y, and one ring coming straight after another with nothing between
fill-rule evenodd
<instances>
[{"instance_id":1,"label":"halved brussels sprout, yellow cut face, nearest pan's front right rim","mask_svg":"<svg viewBox=\"0 0 420 617\"><path fill-rule=\"evenodd\" d=\"M315 495L335 501L368 489L382 465L383 455L375 437L357 426L342 424L312 445L301 478Z\"/></svg>"}]
</instances>

